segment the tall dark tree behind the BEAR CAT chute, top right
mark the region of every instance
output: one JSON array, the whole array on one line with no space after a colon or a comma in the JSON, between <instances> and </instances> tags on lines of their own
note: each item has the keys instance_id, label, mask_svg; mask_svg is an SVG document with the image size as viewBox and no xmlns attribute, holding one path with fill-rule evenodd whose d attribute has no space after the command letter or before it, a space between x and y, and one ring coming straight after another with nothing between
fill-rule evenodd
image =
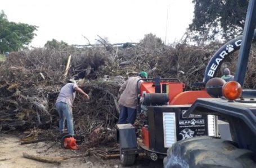
<instances>
[{"instance_id":1,"label":"tall dark tree behind the BEAR CAT chute, top right","mask_svg":"<svg viewBox=\"0 0 256 168\"><path fill-rule=\"evenodd\" d=\"M193 0L194 18L189 30L197 42L230 40L241 35L248 0Z\"/></svg>"}]
</instances>

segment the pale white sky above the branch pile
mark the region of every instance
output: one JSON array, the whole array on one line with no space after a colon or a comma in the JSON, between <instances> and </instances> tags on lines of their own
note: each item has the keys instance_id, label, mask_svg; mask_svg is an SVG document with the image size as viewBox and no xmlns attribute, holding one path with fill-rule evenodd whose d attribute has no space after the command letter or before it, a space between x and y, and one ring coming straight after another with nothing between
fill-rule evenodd
<instances>
[{"instance_id":1,"label":"pale white sky above the branch pile","mask_svg":"<svg viewBox=\"0 0 256 168\"><path fill-rule=\"evenodd\" d=\"M2 0L8 21L39 26L32 46L56 39L68 44L93 44L97 35L110 43L138 42L155 34L167 43L182 38L193 18L192 0Z\"/></svg>"}]
</instances>

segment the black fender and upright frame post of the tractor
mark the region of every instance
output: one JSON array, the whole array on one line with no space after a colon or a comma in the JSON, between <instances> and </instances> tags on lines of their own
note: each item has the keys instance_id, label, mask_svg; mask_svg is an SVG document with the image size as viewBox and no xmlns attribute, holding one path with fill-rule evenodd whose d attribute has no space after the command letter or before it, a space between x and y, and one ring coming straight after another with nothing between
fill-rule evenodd
<instances>
[{"instance_id":1,"label":"black fender and upright frame post of the tractor","mask_svg":"<svg viewBox=\"0 0 256 168\"><path fill-rule=\"evenodd\" d=\"M234 80L239 82L241 86L244 85L251 43L255 41L255 25L256 1L250 0L234 77ZM214 75L212 77L207 75L210 71L210 64L208 64L207 68L204 82L214 77ZM254 99L246 100L246 98L251 97L256 97L256 90L243 90L242 99L238 101L227 101L220 98L197 99L191 108L188 109L186 115L213 114L223 116L227 122L230 123L233 141L235 141L240 148L246 148L256 153L256 105L254 105Z\"/></svg>"}]
</instances>

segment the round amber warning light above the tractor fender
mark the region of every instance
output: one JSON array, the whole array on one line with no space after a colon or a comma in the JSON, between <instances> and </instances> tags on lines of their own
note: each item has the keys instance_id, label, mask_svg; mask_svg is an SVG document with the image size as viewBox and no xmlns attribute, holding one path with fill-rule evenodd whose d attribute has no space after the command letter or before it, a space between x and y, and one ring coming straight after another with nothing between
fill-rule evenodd
<instances>
[{"instance_id":1,"label":"round amber warning light above the tractor fender","mask_svg":"<svg viewBox=\"0 0 256 168\"><path fill-rule=\"evenodd\" d=\"M236 81L230 81L222 86L222 94L228 100L235 100L242 95L242 87Z\"/></svg>"}]
</instances>

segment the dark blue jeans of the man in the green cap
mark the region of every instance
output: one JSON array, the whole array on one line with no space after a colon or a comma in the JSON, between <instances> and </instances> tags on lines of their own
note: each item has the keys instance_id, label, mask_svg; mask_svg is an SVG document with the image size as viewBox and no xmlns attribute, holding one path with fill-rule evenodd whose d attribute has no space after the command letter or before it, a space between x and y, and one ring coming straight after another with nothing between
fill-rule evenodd
<instances>
[{"instance_id":1,"label":"dark blue jeans of the man in the green cap","mask_svg":"<svg viewBox=\"0 0 256 168\"><path fill-rule=\"evenodd\" d=\"M137 111L136 109L127 108L125 106L120 105L120 114L118 124L134 124L136 119Z\"/></svg>"}]
</instances>

